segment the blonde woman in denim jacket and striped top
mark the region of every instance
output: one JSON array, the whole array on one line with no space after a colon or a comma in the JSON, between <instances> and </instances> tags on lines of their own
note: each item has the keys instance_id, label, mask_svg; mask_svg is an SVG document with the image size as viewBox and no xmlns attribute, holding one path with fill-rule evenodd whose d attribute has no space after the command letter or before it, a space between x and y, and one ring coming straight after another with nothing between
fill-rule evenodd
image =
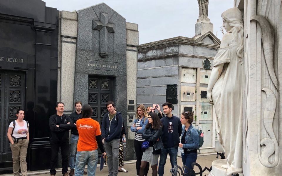
<instances>
[{"instance_id":1,"label":"blonde woman in denim jacket and striped top","mask_svg":"<svg viewBox=\"0 0 282 176\"><path fill-rule=\"evenodd\" d=\"M144 149L142 149L142 143L145 141L145 139L142 138L142 134L144 132L144 129L146 127L146 124L148 123L148 113L146 111L146 108L143 104L140 104L137 106L136 109L136 119L132 123L132 126L130 130L132 132L135 132L135 138L134 138L134 149L136 154L136 175L139 176L140 172L140 165L141 165L141 159L144 152ZM145 169L144 169L144 175L147 175L149 170L149 163L147 163Z\"/></svg>"}]
</instances>

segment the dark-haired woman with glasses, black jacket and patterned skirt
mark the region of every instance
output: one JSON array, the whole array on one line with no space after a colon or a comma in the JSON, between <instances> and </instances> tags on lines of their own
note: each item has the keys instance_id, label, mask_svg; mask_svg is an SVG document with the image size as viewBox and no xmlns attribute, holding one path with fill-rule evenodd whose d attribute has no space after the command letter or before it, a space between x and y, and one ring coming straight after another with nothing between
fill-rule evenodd
<instances>
[{"instance_id":1,"label":"dark-haired woman with glasses, black jacket and patterned skirt","mask_svg":"<svg viewBox=\"0 0 282 176\"><path fill-rule=\"evenodd\" d=\"M149 162L152 167L152 176L157 176L157 163L159 155L161 154L161 148L164 147L162 144L162 123L159 116L155 112L150 112L148 116L148 124L142 134L142 138L146 140L147 147L145 147L145 152L142 156L141 166L140 166L140 176L144 176L144 169ZM143 143L142 147L145 144Z\"/></svg>"}]
</instances>

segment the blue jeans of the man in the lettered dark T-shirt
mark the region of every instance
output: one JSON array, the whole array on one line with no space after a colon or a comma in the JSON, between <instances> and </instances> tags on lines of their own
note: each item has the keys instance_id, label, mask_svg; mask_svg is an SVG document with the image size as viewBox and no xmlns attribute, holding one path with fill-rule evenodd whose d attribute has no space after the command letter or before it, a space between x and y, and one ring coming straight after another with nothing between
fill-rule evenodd
<instances>
[{"instance_id":1,"label":"blue jeans of the man in the lettered dark T-shirt","mask_svg":"<svg viewBox=\"0 0 282 176\"><path fill-rule=\"evenodd\" d=\"M162 154L160 155L159 176L164 175L164 165L167 160L167 154L169 154L170 157L171 167L177 165L177 147L162 148L161 150Z\"/></svg>"}]
</instances>

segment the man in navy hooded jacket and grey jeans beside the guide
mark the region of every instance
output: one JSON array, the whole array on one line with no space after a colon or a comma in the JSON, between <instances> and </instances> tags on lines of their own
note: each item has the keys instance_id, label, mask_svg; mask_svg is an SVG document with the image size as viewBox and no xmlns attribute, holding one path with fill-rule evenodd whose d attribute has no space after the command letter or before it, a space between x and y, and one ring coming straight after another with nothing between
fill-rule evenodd
<instances>
[{"instance_id":1,"label":"man in navy hooded jacket and grey jeans beside the guide","mask_svg":"<svg viewBox=\"0 0 282 176\"><path fill-rule=\"evenodd\" d=\"M109 175L117 176L122 115L120 112L115 111L114 102L108 102L106 106L109 113L104 115L101 133L102 138L104 139L104 147L108 156Z\"/></svg>"}]
</instances>

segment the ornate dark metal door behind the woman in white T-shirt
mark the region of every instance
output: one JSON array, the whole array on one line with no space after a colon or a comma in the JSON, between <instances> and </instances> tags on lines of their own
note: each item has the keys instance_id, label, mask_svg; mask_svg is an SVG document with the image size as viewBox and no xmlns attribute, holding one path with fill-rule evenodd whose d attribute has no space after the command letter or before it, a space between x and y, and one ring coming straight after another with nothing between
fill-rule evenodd
<instances>
[{"instance_id":1,"label":"ornate dark metal door behind the woman in white T-shirt","mask_svg":"<svg viewBox=\"0 0 282 176\"><path fill-rule=\"evenodd\" d=\"M24 98L25 73L0 71L0 162L12 161L7 131L16 111L24 109Z\"/></svg>"}]
</instances>

